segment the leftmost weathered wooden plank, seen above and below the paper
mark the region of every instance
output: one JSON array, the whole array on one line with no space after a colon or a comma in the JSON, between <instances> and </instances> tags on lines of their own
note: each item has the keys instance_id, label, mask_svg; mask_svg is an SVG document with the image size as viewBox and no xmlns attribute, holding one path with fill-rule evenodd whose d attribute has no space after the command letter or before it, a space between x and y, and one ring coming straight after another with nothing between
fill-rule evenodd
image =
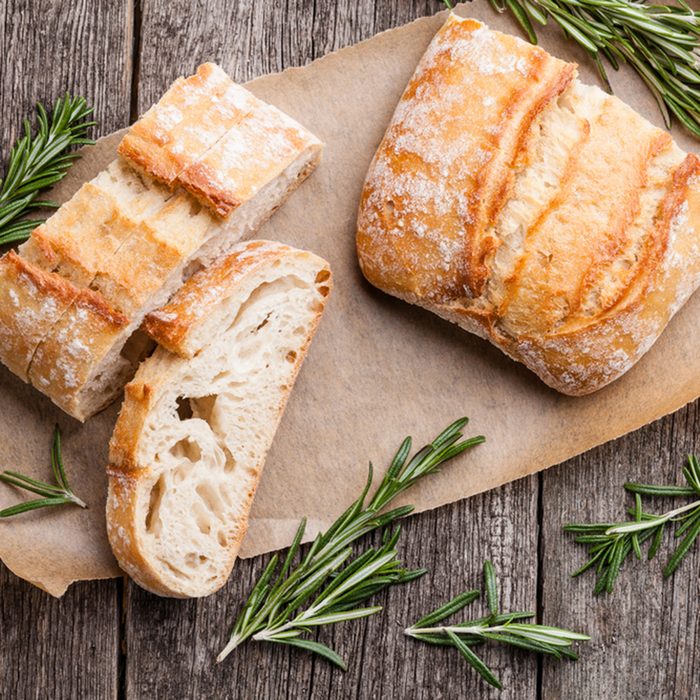
<instances>
[{"instance_id":1,"label":"leftmost weathered wooden plank, seen above and below the paper","mask_svg":"<svg viewBox=\"0 0 700 700\"><path fill-rule=\"evenodd\" d=\"M0 153L37 100L51 104L66 90L96 106L98 133L127 123L128 3L7 0L0 50ZM119 616L116 581L74 586L58 601L0 565L0 697L116 697Z\"/></svg>"}]
</instances>

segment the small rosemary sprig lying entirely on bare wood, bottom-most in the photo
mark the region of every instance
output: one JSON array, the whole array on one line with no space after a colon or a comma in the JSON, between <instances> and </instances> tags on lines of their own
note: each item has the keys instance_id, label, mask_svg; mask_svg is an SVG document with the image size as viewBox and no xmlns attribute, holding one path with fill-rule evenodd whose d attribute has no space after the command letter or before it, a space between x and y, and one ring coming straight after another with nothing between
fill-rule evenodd
<instances>
[{"instance_id":1,"label":"small rosemary sprig lying entirely on bare wood, bottom-most in the photo","mask_svg":"<svg viewBox=\"0 0 700 700\"><path fill-rule=\"evenodd\" d=\"M496 572L488 560L484 562L484 590L489 609L486 617L454 625L437 624L470 605L481 595L478 590L465 591L406 628L404 634L428 644L454 647L487 683L498 689L501 688L500 681L472 647L485 642L498 642L537 654L548 654L557 659L566 657L575 660L578 655L572 651L571 645L590 639L585 634L559 627L523 622L535 617L532 612L501 613Z\"/></svg>"}]
</instances>

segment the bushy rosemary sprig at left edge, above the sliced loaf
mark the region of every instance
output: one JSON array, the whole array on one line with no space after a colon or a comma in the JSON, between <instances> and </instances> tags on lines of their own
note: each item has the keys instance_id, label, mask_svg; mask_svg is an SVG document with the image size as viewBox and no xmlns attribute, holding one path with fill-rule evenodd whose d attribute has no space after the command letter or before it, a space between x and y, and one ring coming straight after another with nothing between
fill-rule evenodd
<instances>
[{"instance_id":1,"label":"bushy rosemary sprig at left edge, above the sliced loaf","mask_svg":"<svg viewBox=\"0 0 700 700\"><path fill-rule=\"evenodd\" d=\"M22 217L35 209L58 206L38 200L39 192L62 180L80 158L71 148L94 143L87 132L96 122L86 121L93 110L85 98L66 94L56 100L50 115L41 103L36 111L37 133L32 134L29 119L25 119L24 135L12 147L5 177L0 180L0 244L23 241L43 223L43 219Z\"/></svg>"}]
</instances>

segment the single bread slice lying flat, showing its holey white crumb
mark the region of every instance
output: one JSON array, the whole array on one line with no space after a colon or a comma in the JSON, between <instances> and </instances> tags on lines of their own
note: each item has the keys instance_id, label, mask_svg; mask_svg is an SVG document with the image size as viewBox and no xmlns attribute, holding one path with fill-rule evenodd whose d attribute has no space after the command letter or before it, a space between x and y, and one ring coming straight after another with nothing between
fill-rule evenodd
<instances>
[{"instance_id":1,"label":"single bread slice lying flat, showing its holey white crumb","mask_svg":"<svg viewBox=\"0 0 700 700\"><path fill-rule=\"evenodd\" d=\"M126 387L108 468L109 539L139 585L190 597L225 583L330 288L324 260L253 241L148 317L164 347Z\"/></svg>"}]
</instances>

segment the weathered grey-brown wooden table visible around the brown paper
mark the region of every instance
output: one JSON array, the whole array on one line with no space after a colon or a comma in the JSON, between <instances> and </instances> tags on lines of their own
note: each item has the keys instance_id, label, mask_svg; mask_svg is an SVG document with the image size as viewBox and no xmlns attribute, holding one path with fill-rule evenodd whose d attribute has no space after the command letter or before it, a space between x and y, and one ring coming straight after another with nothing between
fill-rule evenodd
<instances>
[{"instance_id":1,"label":"weathered grey-brown wooden table visible around the brown paper","mask_svg":"<svg viewBox=\"0 0 700 700\"><path fill-rule=\"evenodd\" d=\"M66 89L88 96L99 132L108 133L206 59L244 81L303 65L440 4L4 0L2 8L6 153L33 103ZM569 577L583 551L561 530L573 518L619 518L627 478L677 480L699 429L696 403L541 475L410 519L404 559L432 575L378 596L383 614L321 632L349 660L345 674L305 653L255 645L213 664L266 557L239 562L225 589L199 601L163 600L122 580L78 584L54 600L0 566L0 698L700 697L700 549L669 581L661 562L634 562L612 595L593 598L589 577ZM409 621L478 585L486 557L501 572L509 606L592 635L581 661L487 649L504 684L499 695L454 650L403 637Z\"/></svg>"}]
</instances>

